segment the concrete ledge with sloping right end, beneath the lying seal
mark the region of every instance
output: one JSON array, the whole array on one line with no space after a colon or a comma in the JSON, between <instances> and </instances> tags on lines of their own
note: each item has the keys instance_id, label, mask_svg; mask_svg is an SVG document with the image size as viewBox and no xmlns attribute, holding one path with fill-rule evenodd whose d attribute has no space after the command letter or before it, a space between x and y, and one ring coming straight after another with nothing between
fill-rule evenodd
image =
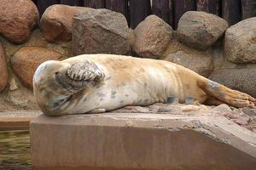
<instances>
[{"instance_id":1,"label":"concrete ledge with sloping right end, beneath the lying seal","mask_svg":"<svg viewBox=\"0 0 256 170\"><path fill-rule=\"evenodd\" d=\"M213 115L106 113L31 122L33 169L255 169L256 135Z\"/></svg>"}]
</instances>

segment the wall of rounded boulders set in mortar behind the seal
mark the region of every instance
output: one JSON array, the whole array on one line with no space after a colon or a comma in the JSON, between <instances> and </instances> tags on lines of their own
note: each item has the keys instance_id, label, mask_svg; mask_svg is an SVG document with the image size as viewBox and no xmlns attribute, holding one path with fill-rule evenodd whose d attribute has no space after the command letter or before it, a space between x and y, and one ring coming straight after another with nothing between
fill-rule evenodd
<instances>
[{"instance_id":1,"label":"wall of rounded boulders set in mortar behind the seal","mask_svg":"<svg viewBox=\"0 0 256 170\"><path fill-rule=\"evenodd\" d=\"M49 59L125 54L165 59L256 97L256 18L234 26L217 15L189 11L177 31L156 15L134 30L108 9L53 5L39 20L30 0L1 0L0 111L37 109L32 76Z\"/></svg>"}]
</instances>

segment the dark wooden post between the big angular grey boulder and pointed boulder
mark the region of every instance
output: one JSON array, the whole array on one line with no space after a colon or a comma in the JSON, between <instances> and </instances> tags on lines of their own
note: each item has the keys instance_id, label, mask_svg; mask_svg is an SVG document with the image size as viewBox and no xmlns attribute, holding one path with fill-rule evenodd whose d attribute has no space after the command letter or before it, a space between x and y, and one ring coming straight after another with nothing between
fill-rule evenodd
<instances>
[{"instance_id":1,"label":"dark wooden post between the big angular grey boulder and pointed boulder","mask_svg":"<svg viewBox=\"0 0 256 170\"><path fill-rule=\"evenodd\" d=\"M130 26L134 29L151 13L150 0L129 0L129 2Z\"/></svg>"}]
</instances>

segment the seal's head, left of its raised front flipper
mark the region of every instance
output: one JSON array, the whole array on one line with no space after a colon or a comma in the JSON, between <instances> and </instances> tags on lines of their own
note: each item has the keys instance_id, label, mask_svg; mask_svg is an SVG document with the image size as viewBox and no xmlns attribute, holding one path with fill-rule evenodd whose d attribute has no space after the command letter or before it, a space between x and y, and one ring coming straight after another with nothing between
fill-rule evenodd
<instances>
[{"instance_id":1,"label":"seal's head, left of its raised front flipper","mask_svg":"<svg viewBox=\"0 0 256 170\"><path fill-rule=\"evenodd\" d=\"M46 114L58 111L60 101L67 99L69 96L55 80L55 75L60 71L67 70L68 66L70 65L61 61L49 60L39 65L34 73L33 94L39 107Z\"/></svg>"}]
</instances>

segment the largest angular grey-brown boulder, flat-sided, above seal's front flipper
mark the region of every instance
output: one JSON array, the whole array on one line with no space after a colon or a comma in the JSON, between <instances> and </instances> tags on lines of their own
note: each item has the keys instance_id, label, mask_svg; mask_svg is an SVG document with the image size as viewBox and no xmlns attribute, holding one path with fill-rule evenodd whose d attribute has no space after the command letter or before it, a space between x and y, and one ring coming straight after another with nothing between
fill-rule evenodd
<instances>
[{"instance_id":1,"label":"largest angular grey-brown boulder, flat-sided, above seal's front flipper","mask_svg":"<svg viewBox=\"0 0 256 170\"><path fill-rule=\"evenodd\" d=\"M130 36L123 14L96 9L73 17L73 54L128 54Z\"/></svg>"}]
</instances>

